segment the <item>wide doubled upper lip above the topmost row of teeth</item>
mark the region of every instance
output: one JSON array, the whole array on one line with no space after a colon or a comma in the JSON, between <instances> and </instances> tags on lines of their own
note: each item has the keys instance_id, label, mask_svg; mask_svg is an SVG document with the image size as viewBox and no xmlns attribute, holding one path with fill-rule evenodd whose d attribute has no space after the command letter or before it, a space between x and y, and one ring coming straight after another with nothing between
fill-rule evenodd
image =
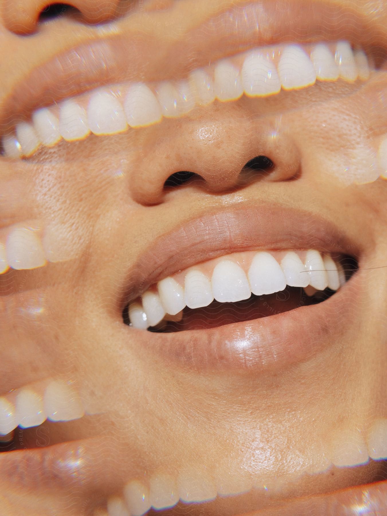
<instances>
[{"instance_id":1,"label":"wide doubled upper lip above the topmost row of teeth","mask_svg":"<svg viewBox=\"0 0 387 516\"><path fill-rule=\"evenodd\" d=\"M184 77L192 69L254 46L347 39L365 49L377 47L380 55L385 45L385 18L387 8L380 6L378 13L371 13L358 3L346 8L310 0L249 4L240 0L240 5L233 0L229 8L220 9L198 26L188 25L186 30L181 28L180 17L179 27L169 27L169 42L163 45L151 24L142 30L129 26L104 39L96 32L94 39L89 36L87 42L31 70L4 95L0 103L2 132L38 107L68 96L128 80Z\"/></svg>"}]
</instances>

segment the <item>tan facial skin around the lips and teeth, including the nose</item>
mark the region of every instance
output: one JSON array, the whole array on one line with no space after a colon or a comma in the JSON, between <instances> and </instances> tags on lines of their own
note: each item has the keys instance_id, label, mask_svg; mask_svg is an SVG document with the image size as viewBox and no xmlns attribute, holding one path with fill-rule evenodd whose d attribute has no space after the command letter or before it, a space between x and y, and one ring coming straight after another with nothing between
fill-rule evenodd
<instances>
[{"instance_id":1,"label":"tan facial skin around the lips and teeth, including the nose","mask_svg":"<svg viewBox=\"0 0 387 516\"><path fill-rule=\"evenodd\" d=\"M112 0L79 1L72 3L79 15L37 25L44 5L33 0L3 2L2 102L30 70L94 38L90 23L119 15L119 23L129 27L133 9ZM198 5L196 15L204 18L206 9L220 2ZM164 23L168 7L169 2L145 3L136 27L147 27L149 20ZM185 20L189 5L180 3L179 9ZM163 28L153 25L166 44ZM36 36L25 36L33 31ZM30 59L25 59L27 47ZM1 160L0 182L7 192L6 208L0 212L3 227L31 218L43 225L61 224L75 243L72 260L34 270L10 269L0 277L5 325L2 392L46 377L71 378L87 404L103 415L62 425L60 432L48 426L51 443L100 435L103 453L109 441L117 439L124 455L116 462L125 467L117 476L116 493L144 471L174 475L193 461L210 471L228 469L234 478L243 472L256 475L273 492L270 500L261 490L217 499L205 512L180 506L179 513L237 514L387 478L382 462L300 476L304 459L297 459L317 457L316 446L334 440L340 429L367 429L376 418L387 417L387 268L382 268L387 265L387 182L348 185L334 173L340 160L351 160L356 167L356 157L343 148L359 146L365 138L369 110L364 105L380 87L373 83L358 91L335 85L332 93L327 85L317 85L281 93L264 105L245 98L215 103L137 132L62 142L26 162ZM322 101L317 114L311 107L316 100ZM261 153L251 131L254 128L262 148L267 147L265 128L275 126L280 115L279 134L289 154L269 149L268 157L274 156L280 166L242 181L244 164ZM383 123L385 132L380 117L381 129L372 135L375 141ZM319 122L328 124L325 131ZM164 190L164 181L178 170L196 172L201 180ZM24 202L12 211L15 191ZM133 333L129 338L122 325L118 303L127 271L171 223L177 227L210 209L261 200L320 214L363 250L361 266L369 270L362 276L362 302L354 305L342 334L317 356L276 374L195 372L155 360L144 346L146 337ZM41 299L40 315L20 311L36 299ZM277 460L271 463L270 456ZM106 492L82 491L77 503L91 511L113 492L110 485ZM16 491L7 479L1 493L9 514L23 513L25 507L29 513L73 514L65 489L31 491L21 486Z\"/></svg>"}]
</instances>

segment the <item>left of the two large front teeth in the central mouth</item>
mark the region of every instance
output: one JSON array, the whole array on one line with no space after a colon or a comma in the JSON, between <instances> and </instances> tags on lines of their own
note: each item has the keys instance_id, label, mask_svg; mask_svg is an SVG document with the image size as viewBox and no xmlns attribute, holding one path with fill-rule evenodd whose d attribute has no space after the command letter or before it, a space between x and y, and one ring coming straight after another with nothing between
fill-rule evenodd
<instances>
[{"instance_id":1,"label":"left of the two large front teeth in the central mouth","mask_svg":"<svg viewBox=\"0 0 387 516\"><path fill-rule=\"evenodd\" d=\"M221 303L248 299L251 291L244 270L230 260L218 262L212 272L212 293Z\"/></svg>"}]
</instances>

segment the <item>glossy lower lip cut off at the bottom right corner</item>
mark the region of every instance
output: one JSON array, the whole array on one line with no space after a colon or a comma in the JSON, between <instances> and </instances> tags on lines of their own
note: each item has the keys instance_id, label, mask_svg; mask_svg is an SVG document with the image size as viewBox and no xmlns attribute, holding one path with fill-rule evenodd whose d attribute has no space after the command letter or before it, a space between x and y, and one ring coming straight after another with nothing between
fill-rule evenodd
<instances>
[{"instance_id":1,"label":"glossy lower lip cut off at the bottom right corner","mask_svg":"<svg viewBox=\"0 0 387 516\"><path fill-rule=\"evenodd\" d=\"M387 481L343 489L321 496L296 499L274 508L253 511L238 516L361 516L362 514L387 514Z\"/></svg>"}]
</instances>

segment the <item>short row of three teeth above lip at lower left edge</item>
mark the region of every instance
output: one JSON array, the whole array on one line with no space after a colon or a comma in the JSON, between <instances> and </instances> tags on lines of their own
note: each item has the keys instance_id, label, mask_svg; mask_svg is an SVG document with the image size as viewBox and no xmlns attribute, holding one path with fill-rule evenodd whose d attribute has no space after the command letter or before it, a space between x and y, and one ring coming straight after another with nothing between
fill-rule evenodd
<instances>
[{"instance_id":1,"label":"short row of three teeth above lip at lower left edge","mask_svg":"<svg viewBox=\"0 0 387 516\"><path fill-rule=\"evenodd\" d=\"M29 428L41 425L46 419L71 421L83 415L85 410L72 386L49 380L0 397L0 436L8 436L17 426Z\"/></svg>"}]
</instances>

